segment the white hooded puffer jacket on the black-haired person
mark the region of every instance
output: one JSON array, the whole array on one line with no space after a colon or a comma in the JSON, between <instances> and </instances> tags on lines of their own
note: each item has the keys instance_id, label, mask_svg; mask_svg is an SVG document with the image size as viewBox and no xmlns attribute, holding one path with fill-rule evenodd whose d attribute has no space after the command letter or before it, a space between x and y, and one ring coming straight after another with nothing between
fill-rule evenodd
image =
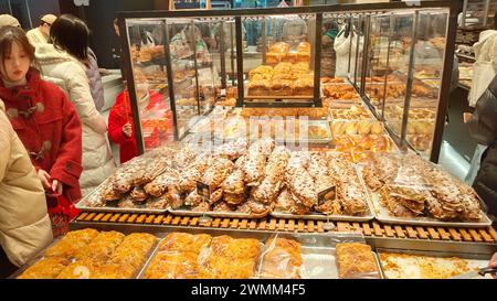
<instances>
[{"instance_id":1,"label":"white hooded puffer jacket on the black-haired person","mask_svg":"<svg viewBox=\"0 0 497 301\"><path fill-rule=\"evenodd\" d=\"M35 56L43 78L66 92L83 125L83 173L80 184L83 195L86 195L115 170L106 136L107 125L95 108L84 64L52 44L36 45Z\"/></svg>"}]
</instances>

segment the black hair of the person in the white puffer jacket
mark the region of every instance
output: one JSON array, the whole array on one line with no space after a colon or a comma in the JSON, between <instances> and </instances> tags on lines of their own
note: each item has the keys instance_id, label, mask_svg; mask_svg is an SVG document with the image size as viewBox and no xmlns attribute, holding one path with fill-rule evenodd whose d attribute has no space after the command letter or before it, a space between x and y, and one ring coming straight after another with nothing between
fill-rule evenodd
<instances>
[{"instance_id":1,"label":"black hair of the person in the white puffer jacket","mask_svg":"<svg viewBox=\"0 0 497 301\"><path fill-rule=\"evenodd\" d=\"M59 17L50 29L50 39L56 49L66 51L80 61L87 61L89 29L80 18L72 14Z\"/></svg>"}]
</instances>

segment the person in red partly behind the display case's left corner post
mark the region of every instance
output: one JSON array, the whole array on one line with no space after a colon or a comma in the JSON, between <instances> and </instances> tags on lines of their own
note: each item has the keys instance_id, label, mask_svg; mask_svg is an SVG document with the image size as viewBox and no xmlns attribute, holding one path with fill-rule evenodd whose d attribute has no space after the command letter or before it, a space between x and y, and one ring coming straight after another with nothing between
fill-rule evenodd
<instances>
[{"instance_id":1,"label":"person in red partly behind the display case's left corner post","mask_svg":"<svg viewBox=\"0 0 497 301\"><path fill-rule=\"evenodd\" d=\"M149 126L162 139L163 136L171 136L171 111L162 95L154 90L148 90L140 85L138 85L137 89L140 99L139 107L142 130L146 131ZM157 122L154 122L154 120ZM116 97L116 103L108 115L108 137L110 141L119 144L119 159L121 164L138 155L138 148L135 140L135 125L133 122L133 112L127 89ZM159 137L156 138L159 140ZM146 138L144 139L147 147L149 141Z\"/></svg>"}]
</instances>

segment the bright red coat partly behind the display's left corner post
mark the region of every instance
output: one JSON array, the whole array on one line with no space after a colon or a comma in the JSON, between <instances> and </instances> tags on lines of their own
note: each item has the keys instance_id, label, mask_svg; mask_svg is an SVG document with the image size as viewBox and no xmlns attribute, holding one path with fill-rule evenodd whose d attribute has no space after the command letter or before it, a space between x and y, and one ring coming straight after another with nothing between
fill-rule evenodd
<instances>
[{"instance_id":1,"label":"bright red coat partly behind the display's left corner post","mask_svg":"<svg viewBox=\"0 0 497 301\"><path fill-rule=\"evenodd\" d=\"M169 109L168 104L163 99L163 97L152 90L149 90L150 99L147 107L144 109L145 112L154 111L157 109ZM144 114L141 115L141 122L144 122ZM168 122L167 127L171 130L172 125L170 122L170 111L167 112L166 122ZM123 132L123 127L127 122L131 123L131 137L126 137ZM125 163L131 160L134 157L138 155L138 148L135 139L135 123L133 122L133 111L130 108L129 99L125 103L124 100L124 92L121 92L116 97L116 103L110 108L110 112L108 115L108 137L114 143L119 144L119 161L120 163Z\"/></svg>"}]
</instances>

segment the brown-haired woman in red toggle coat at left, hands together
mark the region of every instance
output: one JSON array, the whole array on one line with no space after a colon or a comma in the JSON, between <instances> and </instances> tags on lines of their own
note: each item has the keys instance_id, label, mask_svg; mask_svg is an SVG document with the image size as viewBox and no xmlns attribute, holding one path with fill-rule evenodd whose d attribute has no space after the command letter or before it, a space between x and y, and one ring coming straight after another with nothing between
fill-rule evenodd
<instances>
[{"instance_id":1,"label":"brown-haired woman in red toggle coat at left, hands together","mask_svg":"<svg viewBox=\"0 0 497 301\"><path fill-rule=\"evenodd\" d=\"M34 47L18 28L0 29L0 98L47 191L81 198L82 127L73 105L32 68Z\"/></svg>"}]
</instances>

